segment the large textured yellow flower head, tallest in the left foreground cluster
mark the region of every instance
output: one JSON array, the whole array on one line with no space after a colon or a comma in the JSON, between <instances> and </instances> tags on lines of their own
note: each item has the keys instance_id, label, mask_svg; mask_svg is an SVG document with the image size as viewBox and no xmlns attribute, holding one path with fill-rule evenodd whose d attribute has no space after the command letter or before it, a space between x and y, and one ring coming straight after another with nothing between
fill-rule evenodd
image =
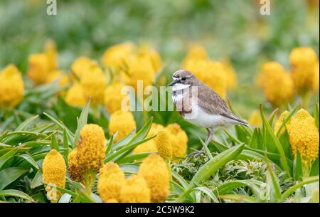
<instances>
[{"instance_id":1,"label":"large textured yellow flower head, tallest in the left foreground cluster","mask_svg":"<svg viewBox=\"0 0 320 217\"><path fill-rule=\"evenodd\" d=\"M78 162L85 171L98 171L105 159L105 133L102 127L88 124L82 127L78 141Z\"/></svg>"}]
</instances>

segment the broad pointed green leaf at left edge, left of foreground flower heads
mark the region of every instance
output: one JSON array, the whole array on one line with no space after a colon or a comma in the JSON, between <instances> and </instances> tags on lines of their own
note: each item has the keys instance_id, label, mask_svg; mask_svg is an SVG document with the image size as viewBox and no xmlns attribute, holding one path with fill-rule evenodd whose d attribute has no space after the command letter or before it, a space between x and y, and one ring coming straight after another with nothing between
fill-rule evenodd
<instances>
[{"instance_id":1,"label":"broad pointed green leaf at left edge, left of foreground flower heads","mask_svg":"<svg viewBox=\"0 0 320 217\"><path fill-rule=\"evenodd\" d=\"M20 167L9 167L0 171L0 190L16 181L20 176L25 174L29 169Z\"/></svg>"}]
</instances>

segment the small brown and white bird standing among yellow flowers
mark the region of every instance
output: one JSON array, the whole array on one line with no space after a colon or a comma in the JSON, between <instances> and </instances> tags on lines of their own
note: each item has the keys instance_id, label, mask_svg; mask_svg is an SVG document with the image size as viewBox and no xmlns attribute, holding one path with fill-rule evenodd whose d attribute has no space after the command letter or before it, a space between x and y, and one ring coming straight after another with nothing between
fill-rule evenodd
<instances>
[{"instance_id":1,"label":"small brown and white bird standing among yellow flowers","mask_svg":"<svg viewBox=\"0 0 320 217\"><path fill-rule=\"evenodd\" d=\"M213 129L220 126L228 125L245 125L248 127L245 120L235 116L228 109L225 101L205 83L201 82L188 70L177 70L174 79L169 83L172 87L172 100L176 105L176 110L180 113L183 119L191 122L198 127L206 127L208 136L205 142L207 146L213 136ZM193 152L189 156L202 154Z\"/></svg>"}]
</instances>

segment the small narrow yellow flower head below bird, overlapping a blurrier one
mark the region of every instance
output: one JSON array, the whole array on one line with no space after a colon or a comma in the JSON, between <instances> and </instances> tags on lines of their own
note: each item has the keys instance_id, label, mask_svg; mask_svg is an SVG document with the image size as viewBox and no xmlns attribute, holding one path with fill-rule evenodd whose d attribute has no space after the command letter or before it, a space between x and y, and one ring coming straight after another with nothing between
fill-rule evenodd
<instances>
[{"instance_id":1,"label":"small narrow yellow flower head below bird, overlapping a blurrier one","mask_svg":"<svg viewBox=\"0 0 320 217\"><path fill-rule=\"evenodd\" d=\"M172 145L170 137L166 132L160 131L156 137L154 137L154 142L161 157L164 159L172 159Z\"/></svg>"}]
</instances>

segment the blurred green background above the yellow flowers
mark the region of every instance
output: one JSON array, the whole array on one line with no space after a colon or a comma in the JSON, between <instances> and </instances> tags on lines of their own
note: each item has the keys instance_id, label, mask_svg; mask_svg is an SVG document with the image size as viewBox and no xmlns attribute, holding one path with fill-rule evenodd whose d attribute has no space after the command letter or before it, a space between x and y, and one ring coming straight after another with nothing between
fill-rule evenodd
<instances>
[{"instance_id":1,"label":"blurred green background above the yellow flowers","mask_svg":"<svg viewBox=\"0 0 320 217\"><path fill-rule=\"evenodd\" d=\"M270 16L260 14L259 0L57 2L57 16L48 16L46 0L0 1L0 68L14 63L25 73L28 55L53 38L65 70L80 55L100 60L114 43L147 41L173 73L196 41L211 58L230 58L239 85L228 97L248 117L265 102L253 85L262 63L277 60L289 70L296 46L311 46L319 55L318 0L271 0Z\"/></svg>"}]
</instances>

